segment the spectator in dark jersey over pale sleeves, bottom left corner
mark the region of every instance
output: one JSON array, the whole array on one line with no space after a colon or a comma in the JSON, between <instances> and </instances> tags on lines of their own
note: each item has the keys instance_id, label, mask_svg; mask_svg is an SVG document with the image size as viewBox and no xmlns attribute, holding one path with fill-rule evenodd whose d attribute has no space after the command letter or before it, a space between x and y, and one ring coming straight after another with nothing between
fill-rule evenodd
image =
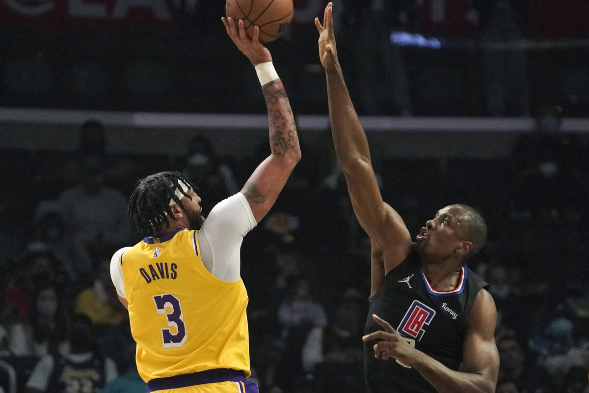
<instances>
[{"instance_id":1,"label":"spectator in dark jersey over pale sleeves, bottom left corner","mask_svg":"<svg viewBox=\"0 0 589 393\"><path fill-rule=\"evenodd\" d=\"M67 392L83 387L98 392L106 382L117 377L117 366L95 348L92 321L85 315L75 315L70 328L70 352L45 355L33 370L25 393ZM74 390L77 391L77 390Z\"/></svg>"}]
</instances>

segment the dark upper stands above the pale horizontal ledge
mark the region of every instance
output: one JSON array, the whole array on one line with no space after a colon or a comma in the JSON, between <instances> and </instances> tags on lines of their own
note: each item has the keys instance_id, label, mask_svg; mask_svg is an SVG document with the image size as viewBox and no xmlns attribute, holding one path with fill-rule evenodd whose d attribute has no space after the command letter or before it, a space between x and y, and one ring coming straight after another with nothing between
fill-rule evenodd
<instances>
[{"instance_id":1,"label":"dark upper stands above the pale horizontal ledge","mask_svg":"<svg viewBox=\"0 0 589 393\"><path fill-rule=\"evenodd\" d=\"M324 114L313 18L327 0L293 2L290 28L268 47L297 113ZM118 18L56 6L53 23L0 9L0 106L263 111L256 75L220 22L224 2L156 3L169 3L169 19L150 2ZM360 114L533 116L547 104L588 113L587 2L342 0L334 12Z\"/></svg>"}]
</instances>

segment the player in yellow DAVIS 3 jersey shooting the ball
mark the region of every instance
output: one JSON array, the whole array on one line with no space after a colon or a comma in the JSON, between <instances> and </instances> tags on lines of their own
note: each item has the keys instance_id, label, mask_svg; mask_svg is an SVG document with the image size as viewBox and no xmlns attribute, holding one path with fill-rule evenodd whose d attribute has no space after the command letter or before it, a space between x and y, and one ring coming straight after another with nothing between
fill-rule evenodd
<instances>
[{"instance_id":1,"label":"player in yellow DAVIS 3 jersey shooting the ball","mask_svg":"<svg viewBox=\"0 0 589 393\"><path fill-rule=\"evenodd\" d=\"M243 189L206 220L196 187L182 174L141 179L128 213L146 237L118 250L111 277L137 342L148 392L257 393L250 375L247 292L240 279L243 237L268 213L300 160L293 113L256 27L223 18L227 34L256 68L268 109L272 153Z\"/></svg>"}]
</instances>

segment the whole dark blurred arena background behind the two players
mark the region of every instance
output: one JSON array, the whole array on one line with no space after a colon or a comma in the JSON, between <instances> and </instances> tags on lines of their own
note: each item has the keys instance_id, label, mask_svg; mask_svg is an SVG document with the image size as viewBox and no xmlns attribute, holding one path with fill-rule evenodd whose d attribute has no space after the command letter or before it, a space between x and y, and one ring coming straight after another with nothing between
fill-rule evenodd
<instances>
[{"instance_id":1,"label":"whole dark blurred arena background behind the two players","mask_svg":"<svg viewBox=\"0 0 589 393\"><path fill-rule=\"evenodd\" d=\"M369 243L329 137L312 22L325 4L294 0L292 25L267 45L303 159L243 243L253 377L264 392L290 392L292 381L297 392L363 389ZM589 3L334 7L385 201L413 234L448 203L488 221L471 267L498 305L498 391L586 392ZM94 323L92 350L137 382L128 321L104 275L112 252L138 240L123 211L135 181L183 171L207 212L269 152L259 82L223 13L219 0L0 0L5 392L25 391L42 356L67 350L77 311ZM88 179L103 197L72 199ZM47 297L58 299L52 313ZM307 311L292 314L293 303Z\"/></svg>"}]
</instances>

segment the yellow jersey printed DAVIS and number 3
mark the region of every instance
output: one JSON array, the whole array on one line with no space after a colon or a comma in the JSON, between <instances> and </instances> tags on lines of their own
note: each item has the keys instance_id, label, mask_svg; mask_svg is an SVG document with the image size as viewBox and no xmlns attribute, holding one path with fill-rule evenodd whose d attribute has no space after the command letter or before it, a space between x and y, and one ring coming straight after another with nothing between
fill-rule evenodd
<instances>
[{"instance_id":1,"label":"yellow jersey printed DAVIS and number 3","mask_svg":"<svg viewBox=\"0 0 589 393\"><path fill-rule=\"evenodd\" d=\"M246 288L203 266L197 231L145 237L120 263L144 381L213 368L249 377Z\"/></svg>"}]
</instances>

